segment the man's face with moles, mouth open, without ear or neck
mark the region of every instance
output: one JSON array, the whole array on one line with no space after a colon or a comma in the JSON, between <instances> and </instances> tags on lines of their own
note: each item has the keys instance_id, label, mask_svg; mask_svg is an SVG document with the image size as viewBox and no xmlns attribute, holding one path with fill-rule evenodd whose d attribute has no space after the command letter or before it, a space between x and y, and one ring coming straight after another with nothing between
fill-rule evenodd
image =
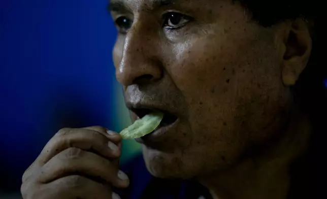
<instances>
[{"instance_id":1,"label":"man's face with moles, mouth open, without ear or neck","mask_svg":"<svg viewBox=\"0 0 327 199\"><path fill-rule=\"evenodd\" d=\"M139 140L154 176L224 169L283 127L291 95L281 81L275 27L259 26L232 0L111 4L116 77L127 105L178 118Z\"/></svg>"}]
</instances>

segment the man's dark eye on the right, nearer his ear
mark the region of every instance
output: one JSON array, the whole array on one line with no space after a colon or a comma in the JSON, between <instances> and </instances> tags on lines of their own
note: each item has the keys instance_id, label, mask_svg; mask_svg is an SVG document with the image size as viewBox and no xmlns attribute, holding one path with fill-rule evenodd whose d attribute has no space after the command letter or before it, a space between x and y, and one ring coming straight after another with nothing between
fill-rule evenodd
<instances>
[{"instance_id":1,"label":"man's dark eye on the right, nearer his ear","mask_svg":"<svg viewBox=\"0 0 327 199\"><path fill-rule=\"evenodd\" d=\"M190 17L177 13L169 12L164 15L164 26L170 29L180 28L190 21Z\"/></svg>"}]
</instances>

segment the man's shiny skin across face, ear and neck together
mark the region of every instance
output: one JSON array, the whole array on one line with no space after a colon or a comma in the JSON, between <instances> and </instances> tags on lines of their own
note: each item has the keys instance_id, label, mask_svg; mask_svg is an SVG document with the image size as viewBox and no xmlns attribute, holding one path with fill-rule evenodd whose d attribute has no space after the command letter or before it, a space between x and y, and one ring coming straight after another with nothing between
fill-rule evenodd
<instances>
[{"instance_id":1,"label":"man's shiny skin across face, ear and neck together","mask_svg":"<svg viewBox=\"0 0 327 199\"><path fill-rule=\"evenodd\" d=\"M217 198L284 198L289 165L310 134L289 87L310 57L306 22L263 27L232 0L111 5L126 103L178 117L142 143L149 172L198 179Z\"/></svg>"}]
</instances>

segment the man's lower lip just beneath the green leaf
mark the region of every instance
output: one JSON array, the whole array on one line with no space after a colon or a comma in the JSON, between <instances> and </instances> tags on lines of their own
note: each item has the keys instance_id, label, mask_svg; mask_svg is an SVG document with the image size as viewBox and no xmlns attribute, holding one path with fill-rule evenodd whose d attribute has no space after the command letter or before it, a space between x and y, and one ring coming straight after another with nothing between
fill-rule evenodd
<instances>
[{"instance_id":1,"label":"man's lower lip just beneath the green leaf","mask_svg":"<svg viewBox=\"0 0 327 199\"><path fill-rule=\"evenodd\" d=\"M173 127L175 127L177 125L177 123L179 122L179 119L177 119L175 122L167 125L167 126L162 126L156 130L154 130L153 132L151 132L148 135L145 135L141 138L136 138L135 140L138 143L144 144L146 142L159 142L160 140L165 138L165 135L167 135L167 132L172 129Z\"/></svg>"}]
</instances>

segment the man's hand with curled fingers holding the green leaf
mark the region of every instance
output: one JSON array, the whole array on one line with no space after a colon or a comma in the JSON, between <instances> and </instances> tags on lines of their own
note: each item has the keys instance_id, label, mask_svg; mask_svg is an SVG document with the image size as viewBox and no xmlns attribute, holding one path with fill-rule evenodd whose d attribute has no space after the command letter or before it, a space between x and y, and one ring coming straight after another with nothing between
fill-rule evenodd
<instances>
[{"instance_id":1,"label":"man's hand with curled fingers holding the green leaf","mask_svg":"<svg viewBox=\"0 0 327 199\"><path fill-rule=\"evenodd\" d=\"M120 135L103 127L59 130L25 171L23 198L119 198L111 186L129 184L118 167L120 147Z\"/></svg>"}]
</instances>

